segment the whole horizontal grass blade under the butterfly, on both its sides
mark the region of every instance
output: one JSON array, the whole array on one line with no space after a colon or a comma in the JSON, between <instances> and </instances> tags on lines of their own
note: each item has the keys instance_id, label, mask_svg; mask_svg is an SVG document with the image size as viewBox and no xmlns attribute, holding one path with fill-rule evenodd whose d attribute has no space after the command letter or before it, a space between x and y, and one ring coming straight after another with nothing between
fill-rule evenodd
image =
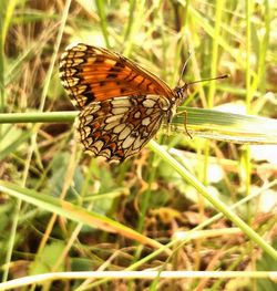
<instances>
[{"instance_id":1,"label":"whole horizontal grass blade under the butterfly, on both its sides","mask_svg":"<svg viewBox=\"0 0 277 291\"><path fill-rule=\"evenodd\" d=\"M187 128L193 136L213 138L237 144L277 144L277 122L254 115L242 115L202 110L179 107L179 112L187 112ZM47 113L7 113L0 114L1 123L73 123L78 112L47 112ZM185 131L185 115L177 114L171 123L172 133ZM167 128L167 124L164 125Z\"/></svg>"}]
</instances>

